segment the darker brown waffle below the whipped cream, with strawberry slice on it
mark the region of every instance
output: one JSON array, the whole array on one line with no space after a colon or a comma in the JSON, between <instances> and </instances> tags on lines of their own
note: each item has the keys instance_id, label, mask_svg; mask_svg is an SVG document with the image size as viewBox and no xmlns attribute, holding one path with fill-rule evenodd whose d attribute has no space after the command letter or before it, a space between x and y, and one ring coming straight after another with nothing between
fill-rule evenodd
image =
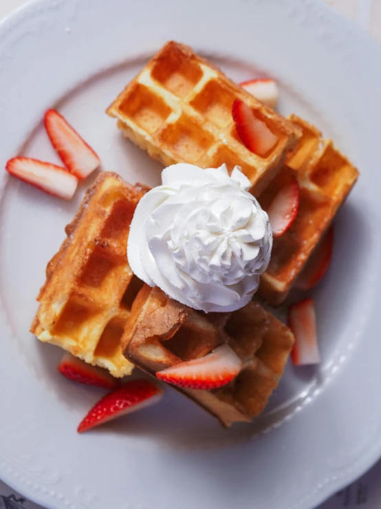
<instances>
[{"instance_id":1,"label":"darker brown waffle below the whipped cream, with strawberry slice on it","mask_svg":"<svg viewBox=\"0 0 381 509\"><path fill-rule=\"evenodd\" d=\"M228 342L243 360L241 373L213 391L178 390L224 426L259 415L279 383L294 343L290 329L250 302L234 313L202 313L146 284L133 302L122 337L124 355L151 375L210 353Z\"/></svg>"}]
</instances>

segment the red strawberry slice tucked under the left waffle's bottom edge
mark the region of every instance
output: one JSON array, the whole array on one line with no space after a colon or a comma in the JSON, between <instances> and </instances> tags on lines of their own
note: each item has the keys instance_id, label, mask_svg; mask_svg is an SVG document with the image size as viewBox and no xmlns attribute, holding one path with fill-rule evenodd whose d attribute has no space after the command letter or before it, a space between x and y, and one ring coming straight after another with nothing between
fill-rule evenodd
<instances>
[{"instance_id":1,"label":"red strawberry slice tucked under the left waffle's bottom edge","mask_svg":"<svg viewBox=\"0 0 381 509\"><path fill-rule=\"evenodd\" d=\"M114 378L108 371L96 366L91 366L83 360L65 352L58 364L58 371L69 380L80 384L95 385L107 389L114 389L120 386L120 380Z\"/></svg>"}]
</instances>

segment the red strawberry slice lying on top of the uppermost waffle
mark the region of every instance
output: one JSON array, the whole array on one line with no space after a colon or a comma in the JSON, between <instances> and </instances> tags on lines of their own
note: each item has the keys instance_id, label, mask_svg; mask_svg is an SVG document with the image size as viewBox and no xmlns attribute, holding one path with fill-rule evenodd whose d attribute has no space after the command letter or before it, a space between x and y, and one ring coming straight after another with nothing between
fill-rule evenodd
<instances>
[{"instance_id":1,"label":"red strawberry slice lying on top of the uppermost waffle","mask_svg":"<svg viewBox=\"0 0 381 509\"><path fill-rule=\"evenodd\" d=\"M233 103L232 116L243 145L258 156L267 156L278 142L277 136L263 121L254 116L251 108L240 99Z\"/></svg>"}]
</instances>

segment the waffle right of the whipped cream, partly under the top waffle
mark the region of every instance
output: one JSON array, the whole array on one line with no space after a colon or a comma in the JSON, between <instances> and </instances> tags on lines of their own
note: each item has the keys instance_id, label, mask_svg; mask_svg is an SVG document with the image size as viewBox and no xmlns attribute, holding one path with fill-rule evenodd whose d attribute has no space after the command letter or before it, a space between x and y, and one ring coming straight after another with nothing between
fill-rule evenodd
<instances>
[{"instance_id":1,"label":"waffle right of the whipped cream, partly under the top waffle","mask_svg":"<svg viewBox=\"0 0 381 509\"><path fill-rule=\"evenodd\" d=\"M290 121L302 129L303 136L259 198L266 210L287 181L293 177L298 180L298 216L283 236L274 238L268 270L261 276L259 295L272 305L285 300L358 177L358 170L331 140L322 138L316 127L295 115L290 116Z\"/></svg>"}]
</instances>

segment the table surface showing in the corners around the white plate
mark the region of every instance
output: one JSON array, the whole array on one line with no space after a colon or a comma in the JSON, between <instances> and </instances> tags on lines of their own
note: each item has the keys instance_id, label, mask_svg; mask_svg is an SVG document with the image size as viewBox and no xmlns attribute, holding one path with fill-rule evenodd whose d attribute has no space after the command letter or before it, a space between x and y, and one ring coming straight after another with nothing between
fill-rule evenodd
<instances>
[{"instance_id":1,"label":"table surface showing in the corners around the white plate","mask_svg":"<svg viewBox=\"0 0 381 509\"><path fill-rule=\"evenodd\" d=\"M33 0L0 0L0 19L12 10ZM69 0L67 0L69 1ZM301 0L303 1L303 0ZM363 28L381 42L381 0L325 0L329 5L345 16L357 21ZM339 492L320 506L320 509L340 508L381 508L381 461L378 465L351 486ZM11 497L11 498L10 498ZM13 498L14 497L14 498ZM18 500L19 496L0 481L0 507L6 501L14 501L20 509L42 509L28 501ZM3 501L3 502L2 502ZM6 506L8 507L8 506Z\"/></svg>"}]
</instances>

